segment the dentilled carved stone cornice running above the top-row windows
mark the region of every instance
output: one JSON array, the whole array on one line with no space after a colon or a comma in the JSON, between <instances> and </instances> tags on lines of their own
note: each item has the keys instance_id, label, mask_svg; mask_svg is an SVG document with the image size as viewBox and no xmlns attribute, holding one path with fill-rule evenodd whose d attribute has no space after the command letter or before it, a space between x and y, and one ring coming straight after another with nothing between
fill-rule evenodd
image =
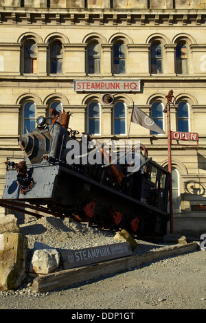
<instances>
[{"instance_id":1,"label":"dentilled carved stone cornice running above the top-row windows","mask_svg":"<svg viewBox=\"0 0 206 323\"><path fill-rule=\"evenodd\" d=\"M16 25L205 25L205 10L71 10L67 8L8 8L0 7L0 23Z\"/></svg>"}]
</instances>

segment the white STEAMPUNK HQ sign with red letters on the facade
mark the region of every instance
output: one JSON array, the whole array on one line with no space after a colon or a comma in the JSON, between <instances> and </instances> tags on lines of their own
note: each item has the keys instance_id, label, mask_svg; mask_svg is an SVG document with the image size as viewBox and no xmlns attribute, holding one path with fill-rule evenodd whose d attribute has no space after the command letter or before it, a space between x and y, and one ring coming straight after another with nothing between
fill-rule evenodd
<instances>
[{"instance_id":1,"label":"white STEAMPUNK HQ sign with red letters on the facade","mask_svg":"<svg viewBox=\"0 0 206 323\"><path fill-rule=\"evenodd\" d=\"M85 92L139 92L140 80L74 80L73 89Z\"/></svg>"}]
</instances>

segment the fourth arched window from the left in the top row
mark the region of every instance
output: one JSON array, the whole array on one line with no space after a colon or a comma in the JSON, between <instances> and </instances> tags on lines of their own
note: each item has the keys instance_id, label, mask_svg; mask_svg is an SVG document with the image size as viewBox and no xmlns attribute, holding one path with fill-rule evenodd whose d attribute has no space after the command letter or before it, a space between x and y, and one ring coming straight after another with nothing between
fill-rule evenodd
<instances>
[{"instance_id":1,"label":"fourth arched window from the left in the top row","mask_svg":"<svg viewBox=\"0 0 206 323\"><path fill-rule=\"evenodd\" d=\"M126 65L126 49L123 41L117 41L113 46L113 73L124 74Z\"/></svg>"}]
</instances>

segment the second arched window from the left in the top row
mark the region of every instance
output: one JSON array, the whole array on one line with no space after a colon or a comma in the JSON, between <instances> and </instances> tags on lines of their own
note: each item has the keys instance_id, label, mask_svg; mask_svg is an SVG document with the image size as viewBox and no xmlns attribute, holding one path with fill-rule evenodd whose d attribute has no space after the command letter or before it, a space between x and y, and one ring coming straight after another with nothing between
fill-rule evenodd
<instances>
[{"instance_id":1,"label":"second arched window from the left in the top row","mask_svg":"<svg viewBox=\"0 0 206 323\"><path fill-rule=\"evenodd\" d=\"M62 73L62 44L55 41L50 49L50 73Z\"/></svg>"}]
</instances>

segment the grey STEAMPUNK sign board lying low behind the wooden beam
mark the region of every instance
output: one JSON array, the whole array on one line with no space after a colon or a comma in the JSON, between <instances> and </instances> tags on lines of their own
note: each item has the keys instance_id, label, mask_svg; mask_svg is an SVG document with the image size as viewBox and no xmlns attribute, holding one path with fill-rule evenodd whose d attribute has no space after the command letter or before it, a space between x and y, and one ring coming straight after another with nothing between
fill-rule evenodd
<instances>
[{"instance_id":1,"label":"grey STEAMPUNK sign board lying low behind the wooden beam","mask_svg":"<svg viewBox=\"0 0 206 323\"><path fill-rule=\"evenodd\" d=\"M114 243L113 245L101 245L78 250L61 252L62 265L65 269L100 263L104 260L122 258L133 254L130 244Z\"/></svg>"}]
</instances>

